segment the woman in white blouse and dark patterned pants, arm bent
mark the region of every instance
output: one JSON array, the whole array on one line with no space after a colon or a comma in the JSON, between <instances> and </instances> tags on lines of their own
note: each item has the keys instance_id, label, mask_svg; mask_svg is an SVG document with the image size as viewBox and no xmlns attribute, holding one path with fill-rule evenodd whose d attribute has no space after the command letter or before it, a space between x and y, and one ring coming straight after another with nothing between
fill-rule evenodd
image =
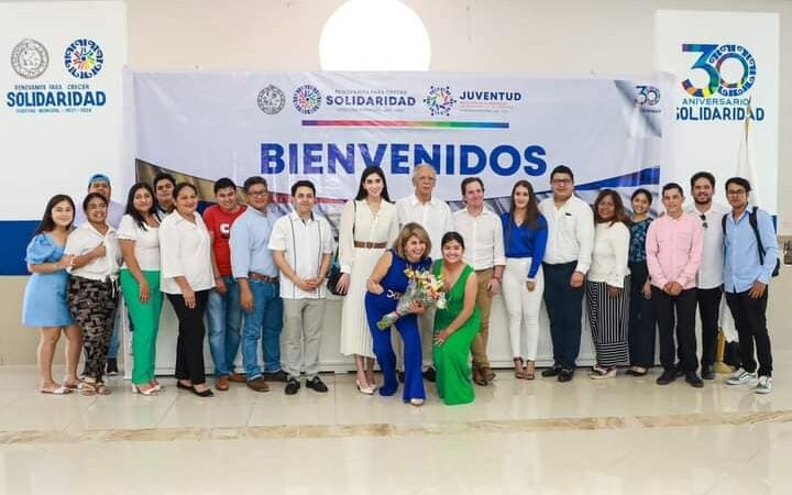
<instances>
[{"instance_id":1,"label":"woman in white blouse and dark patterned pants, arm bent","mask_svg":"<svg viewBox=\"0 0 792 495\"><path fill-rule=\"evenodd\" d=\"M108 226L108 201L91 193L82 200L87 221L74 230L66 241L64 253L74 255L68 268L69 311L82 329L85 381L82 395L107 395L105 358L110 346L113 319L118 305L118 272L121 252L116 229Z\"/></svg>"}]
</instances>

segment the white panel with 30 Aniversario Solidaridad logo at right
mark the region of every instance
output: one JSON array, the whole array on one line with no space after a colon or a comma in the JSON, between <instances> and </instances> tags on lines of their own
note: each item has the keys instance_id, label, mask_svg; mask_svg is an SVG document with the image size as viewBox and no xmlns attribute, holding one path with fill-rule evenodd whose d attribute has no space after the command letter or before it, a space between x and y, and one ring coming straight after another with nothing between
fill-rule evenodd
<instances>
[{"instance_id":1,"label":"white panel with 30 Aniversario Solidaridad logo at right","mask_svg":"<svg viewBox=\"0 0 792 495\"><path fill-rule=\"evenodd\" d=\"M658 11L654 46L656 67L679 80L669 92L675 166L663 169L663 182L688 189L691 175L710 170L718 182L716 200L725 202L726 179L752 174L751 199L776 215L778 13ZM746 168L751 161L752 173Z\"/></svg>"}]
</instances>

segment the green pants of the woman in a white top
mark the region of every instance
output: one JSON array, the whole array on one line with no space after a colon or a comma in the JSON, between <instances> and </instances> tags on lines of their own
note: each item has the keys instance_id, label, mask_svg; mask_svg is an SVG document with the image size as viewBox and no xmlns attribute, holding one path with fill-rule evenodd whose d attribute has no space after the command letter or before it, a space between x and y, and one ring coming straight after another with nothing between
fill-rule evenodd
<instances>
[{"instance_id":1,"label":"green pants of the woman in a white top","mask_svg":"<svg viewBox=\"0 0 792 495\"><path fill-rule=\"evenodd\" d=\"M121 292L132 320L132 383L147 384L154 380L156 360L156 336L160 330L160 311L163 295L160 292L160 272L144 271L148 282L151 298L143 304L140 300L140 285L129 270L121 271Z\"/></svg>"}]
</instances>

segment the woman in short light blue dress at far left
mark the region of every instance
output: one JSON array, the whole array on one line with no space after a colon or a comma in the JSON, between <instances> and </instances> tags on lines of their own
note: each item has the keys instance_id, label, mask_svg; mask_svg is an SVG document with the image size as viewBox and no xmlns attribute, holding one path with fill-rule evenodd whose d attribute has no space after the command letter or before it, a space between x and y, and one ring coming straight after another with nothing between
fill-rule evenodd
<instances>
[{"instance_id":1,"label":"woman in short light blue dress at far left","mask_svg":"<svg viewBox=\"0 0 792 495\"><path fill-rule=\"evenodd\" d=\"M68 394L77 388L77 363L82 334L74 323L66 304L66 285L74 256L64 255L66 238L72 232L75 206L66 195L50 199L44 217L28 244L25 261L33 274L28 280L22 302L22 324L41 328L38 373L42 394ZM61 332L66 333L66 377L63 385L53 380L52 362Z\"/></svg>"}]
</instances>

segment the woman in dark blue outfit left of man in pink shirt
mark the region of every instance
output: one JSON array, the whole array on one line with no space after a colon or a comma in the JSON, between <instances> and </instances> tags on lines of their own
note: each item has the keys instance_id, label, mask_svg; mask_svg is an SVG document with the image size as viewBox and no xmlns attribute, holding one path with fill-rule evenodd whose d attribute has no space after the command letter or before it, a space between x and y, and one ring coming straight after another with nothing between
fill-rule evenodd
<instances>
[{"instance_id":1,"label":"woman in dark blue outfit left of man in pink shirt","mask_svg":"<svg viewBox=\"0 0 792 495\"><path fill-rule=\"evenodd\" d=\"M646 189L636 189L631 196L632 218L630 222L629 270L630 270L630 316L627 341L631 367L628 375L644 376L654 364L654 328L651 284L646 262L646 233L652 218L649 217L652 196Z\"/></svg>"}]
</instances>

